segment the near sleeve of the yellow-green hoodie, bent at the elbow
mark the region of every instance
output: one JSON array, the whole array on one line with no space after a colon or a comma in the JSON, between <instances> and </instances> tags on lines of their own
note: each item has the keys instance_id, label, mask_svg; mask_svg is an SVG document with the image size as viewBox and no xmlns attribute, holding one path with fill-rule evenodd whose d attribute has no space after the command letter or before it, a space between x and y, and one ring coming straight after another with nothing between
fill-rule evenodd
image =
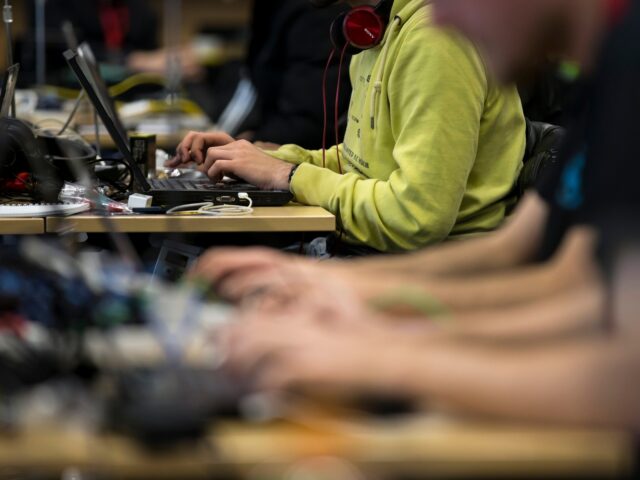
<instances>
[{"instance_id":1,"label":"near sleeve of the yellow-green hoodie, bent at the elbow","mask_svg":"<svg viewBox=\"0 0 640 480\"><path fill-rule=\"evenodd\" d=\"M349 239L386 252L449 236L475 162L488 89L474 48L455 34L416 22L399 42L382 96L397 169L387 180L339 175L309 154L291 185L298 201L334 213Z\"/></svg>"}]
</instances>

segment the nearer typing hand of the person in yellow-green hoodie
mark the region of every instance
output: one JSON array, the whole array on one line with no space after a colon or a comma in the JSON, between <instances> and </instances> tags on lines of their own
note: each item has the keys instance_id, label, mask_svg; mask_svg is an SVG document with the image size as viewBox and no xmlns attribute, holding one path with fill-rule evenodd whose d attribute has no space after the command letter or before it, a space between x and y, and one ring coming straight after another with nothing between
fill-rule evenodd
<instances>
[{"instance_id":1,"label":"nearer typing hand of the person in yellow-green hoodie","mask_svg":"<svg viewBox=\"0 0 640 480\"><path fill-rule=\"evenodd\" d=\"M289 176L294 166L264 153L251 142L238 140L210 147L199 168L214 182L228 175L242 178L265 190L288 190Z\"/></svg>"}]
</instances>

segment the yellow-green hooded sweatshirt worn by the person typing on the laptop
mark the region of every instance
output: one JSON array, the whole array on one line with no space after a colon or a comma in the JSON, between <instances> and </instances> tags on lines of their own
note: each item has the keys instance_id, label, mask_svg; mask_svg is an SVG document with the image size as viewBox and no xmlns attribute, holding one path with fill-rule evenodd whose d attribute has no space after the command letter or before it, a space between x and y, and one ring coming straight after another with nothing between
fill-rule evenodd
<instances>
[{"instance_id":1,"label":"yellow-green hooded sweatshirt worn by the person typing on the laptop","mask_svg":"<svg viewBox=\"0 0 640 480\"><path fill-rule=\"evenodd\" d=\"M273 155L300 164L296 200L334 213L351 243L400 252L494 229L524 155L517 92L491 84L476 49L433 26L424 0L396 0L391 18L383 44L351 63L344 174L336 147L326 168L322 151Z\"/></svg>"}]
</instances>

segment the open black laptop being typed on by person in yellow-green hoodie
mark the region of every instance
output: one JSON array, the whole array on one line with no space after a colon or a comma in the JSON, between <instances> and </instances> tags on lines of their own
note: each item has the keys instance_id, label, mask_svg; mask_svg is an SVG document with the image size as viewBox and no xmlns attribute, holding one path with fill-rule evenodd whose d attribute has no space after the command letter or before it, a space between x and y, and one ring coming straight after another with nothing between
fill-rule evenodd
<instances>
[{"instance_id":1,"label":"open black laptop being typed on by person in yellow-green hoodie","mask_svg":"<svg viewBox=\"0 0 640 480\"><path fill-rule=\"evenodd\" d=\"M64 57L98 112L98 116L122 154L124 161L131 169L136 191L153 196L155 205L177 206L202 202L243 204L244 201L238 198L238 194L241 192L246 192L251 197L253 205L257 207L282 206L293 199L293 195L288 190L263 190L241 182L213 183L180 178L147 180L133 160L126 134L123 134L116 125L115 109L109 106L112 105L111 97L105 94L107 89L102 78L97 75L97 70L92 71L84 56L73 50L64 52Z\"/></svg>"}]
</instances>

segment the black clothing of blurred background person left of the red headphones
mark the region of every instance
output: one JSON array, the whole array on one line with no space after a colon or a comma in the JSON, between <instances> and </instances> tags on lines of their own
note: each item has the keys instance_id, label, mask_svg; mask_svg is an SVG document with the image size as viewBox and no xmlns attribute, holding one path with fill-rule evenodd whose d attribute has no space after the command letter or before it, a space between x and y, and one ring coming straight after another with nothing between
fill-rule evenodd
<instances>
[{"instance_id":1,"label":"black clothing of blurred background person left of the red headphones","mask_svg":"<svg viewBox=\"0 0 640 480\"><path fill-rule=\"evenodd\" d=\"M342 10L316 9L308 0L254 2L247 68L258 104L256 115L241 131L255 131L255 140L310 149L322 146L322 77L331 51L329 27ZM340 81L339 116L345 124L351 96L349 62L345 58ZM334 61L327 81L329 139L334 137L337 82L338 62Z\"/></svg>"}]
</instances>

